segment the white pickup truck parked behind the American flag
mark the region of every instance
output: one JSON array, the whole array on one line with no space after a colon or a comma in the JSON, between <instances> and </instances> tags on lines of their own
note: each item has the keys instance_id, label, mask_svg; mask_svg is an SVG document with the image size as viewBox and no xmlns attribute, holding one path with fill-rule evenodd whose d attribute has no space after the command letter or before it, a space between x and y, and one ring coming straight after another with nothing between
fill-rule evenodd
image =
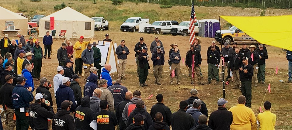
<instances>
[{"instance_id":1,"label":"white pickup truck parked behind the American flag","mask_svg":"<svg viewBox=\"0 0 292 130\"><path fill-rule=\"evenodd\" d=\"M176 35L182 35L182 36L188 36L191 31L189 30L189 21L182 21L179 23L178 26L171 28L170 33L172 36ZM199 26L198 23L195 23L195 32L199 33Z\"/></svg>"}]
</instances>

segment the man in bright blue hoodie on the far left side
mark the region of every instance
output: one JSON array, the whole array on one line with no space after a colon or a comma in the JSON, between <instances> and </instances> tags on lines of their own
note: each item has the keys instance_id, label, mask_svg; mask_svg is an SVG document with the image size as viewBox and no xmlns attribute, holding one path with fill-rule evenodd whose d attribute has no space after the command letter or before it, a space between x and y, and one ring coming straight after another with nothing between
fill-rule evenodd
<instances>
[{"instance_id":1,"label":"man in bright blue hoodie on the far left side","mask_svg":"<svg viewBox=\"0 0 292 130\"><path fill-rule=\"evenodd\" d=\"M25 87L29 88L32 87L32 91L34 90L34 84L33 84L33 76L31 75L31 72L33 71L33 66L31 64L26 64L25 69L22 70L21 74L23 77L27 79L25 83Z\"/></svg>"}]
</instances>

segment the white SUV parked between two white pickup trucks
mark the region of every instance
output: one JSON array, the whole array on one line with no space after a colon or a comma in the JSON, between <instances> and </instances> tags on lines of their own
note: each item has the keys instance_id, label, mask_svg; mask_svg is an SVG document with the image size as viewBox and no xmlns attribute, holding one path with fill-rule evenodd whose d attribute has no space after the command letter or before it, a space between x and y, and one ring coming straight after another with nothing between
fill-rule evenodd
<instances>
[{"instance_id":1,"label":"white SUV parked between two white pickup trucks","mask_svg":"<svg viewBox=\"0 0 292 130\"><path fill-rule=\"evenodd\" d=\"M144 27L145 33L170 33L172 27L177 26L177 21L155 21L150 26Z\"/></svg>"}]
</instances>

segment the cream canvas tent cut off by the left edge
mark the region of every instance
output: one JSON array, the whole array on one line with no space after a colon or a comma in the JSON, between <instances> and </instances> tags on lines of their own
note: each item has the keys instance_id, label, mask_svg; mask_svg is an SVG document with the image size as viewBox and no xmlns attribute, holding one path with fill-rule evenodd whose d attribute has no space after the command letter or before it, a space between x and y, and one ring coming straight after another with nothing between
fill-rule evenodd
<instances>
[{"instance_id":1,"label":"cream canvas tent cut off by the left edge","mask_svg":"<svg viewBox=\"0 0 292 130\"><path fill-rule=\"evenodd\" d=\"M20 29L18 33L21 35L27 34L27 18L23 17L15 12L12 12L8 9L5 9L0 6L0 29L5 30L6 26L12 25L15 26L15 29ZM0 33L2 37L2 32Z\"/></svg>"}]
</instances>

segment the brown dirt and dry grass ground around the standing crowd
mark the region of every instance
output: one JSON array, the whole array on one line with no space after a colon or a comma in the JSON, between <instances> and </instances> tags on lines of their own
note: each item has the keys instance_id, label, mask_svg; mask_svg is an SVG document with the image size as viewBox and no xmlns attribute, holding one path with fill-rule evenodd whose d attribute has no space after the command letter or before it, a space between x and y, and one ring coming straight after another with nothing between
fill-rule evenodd
<instances>
[{"instance_id":1,"label":"brown dirt and dry grass ground around the standing crowd","mask_svg":"<svg viewBox=\"0 0 292 130\"><path fill-rule=\"evenodd\" d=\"M145 101L145 104L148 106L148 112L150 112L150 108L157 101L155 96L159 93L164 95L164 103L167 105L172 112L176 112L179 109L179 102L182 100L186 100L189 97L189 91L194 86L190 84L190 79L186 77L188 74L187 68L181 64L181 85L170 85L169 80L169 65L167 63L168 51L171 48L170 44L176 42L179 46L180 54L182 57L185 57L186 52L189 50L189 37L182 36L171 36L171 35L159 35L159 39L162 41L163 46L166 50L165 53L165 66L164 73L162 75L162 85L158 86L154 83L155 78L153 77L152 71L152 61L149 61L150 69L149 75L146 83L147 87L140 87L138 77L136 77L136 62L134 60L134 46L139 41L140 37L144 37L144 42L149 47L151 42L154 40L154 34L145 34L145 33L125 33L125 32L95 32L94 40L103 40L104 35L109 33L110 39L120 44L120 40L126 40L126 46L130 50L130 54L127 59L127 69L126 69L126 77L127 80L123 80L123 85L126 86L129 91L134 92L135 90L140 90L142 93L142 98ZM28 36L25 37L28 39ZM13 39L13 38L10 38ZM38 38L42 43L42 38ZM202 43L202 73L203 73L203 81L207 82L207 47L210 46L212 38L200 38ZM87 41L89 39L85 39ZM74 44L78 39L71 39L71 42ZM57 74L56 68L58 65L57 61L57 50L61 47L61 43L64 42L64 39L56 39L53 42L52 46L52 59L43 59L43 67L41 72L41 77L47 77L51 81L53 81L53 77ZM40 44L43 48L43 44ZM241 45L239 45L241 47ZM220 46L219 46L220 47ZM220 47L221 48L221 47ZM272 103L272 112L277 115L276 121L276 129L292 129L292 93L291 87L292 84L288 83L279 83L278 80L287 80L287 60L285 52L282 52L282 49L276 48L273 46L267 46L267 50L269 53L269 59L266 60L266 84L259 84L259 86L255 87L252 85L252 110L257 115L259 113L259 107L262 101L271 101ZM149 51L150 53L150 51ZM74 55L73 55L74 56ZM75 56L74 56L75 57ZM279 68L278 74L273 74L276 66ZM75 67L74 67L75 68ZM221 71L221 68L220 68ZM113 79L117 78L117 73L111 74ZM82 91L84 88L84 78L80 80L80 86L82 87ZM271 93L266 93L266 88L268 87L268 83L271 82ZM214 81L212 81L214 83ZM39 86L39 82L35 81L35 87ZM226 100L228 100L227 109L237 104L237 97L241 95L240 90L232 89L232 83L226 85ZM198 85L195 83L195 88L199 91L199 97L206 104L209 111L209 115L212 111L217 109L217 100L218 98L222 98L222 84L215 85ZM54 94L54 89L50 89L51 94ZM266 93L266 95L265 95ZM151 94L154 96L150 100L146 100ZM265 98L263 100L263 97ZM56 110L55 98L54 101L54 109ZM262 106L263 108L263 106Z\"/></svg>"}]
</instances>

